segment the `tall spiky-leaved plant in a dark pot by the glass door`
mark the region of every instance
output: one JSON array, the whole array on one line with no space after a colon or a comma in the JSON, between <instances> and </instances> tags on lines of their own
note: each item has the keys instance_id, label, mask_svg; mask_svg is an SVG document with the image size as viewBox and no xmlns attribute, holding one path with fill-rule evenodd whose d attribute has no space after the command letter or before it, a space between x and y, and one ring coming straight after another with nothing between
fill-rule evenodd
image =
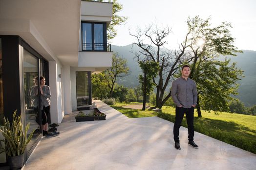
<instances>
[{"instance_id":1,"label":"tall spiky-leaved plant in a dark pot by the glass door","mask_svg":"<svg viewBox=\"0 0 256 170\"><path fill-rule=\"evenodd\" d=\"M13 113L12 124L7 119L3 119L3 127L0 127L4 139L5 148L2 148L0 153L5 152L8 155L8 162L11 170L20 170L24 164L24 152L27 144L31 140L35 130L27 136L29 123L23 132L23 125L21 123L21 116L16 116L17 110Z\"/></svg>"}]
</instances>

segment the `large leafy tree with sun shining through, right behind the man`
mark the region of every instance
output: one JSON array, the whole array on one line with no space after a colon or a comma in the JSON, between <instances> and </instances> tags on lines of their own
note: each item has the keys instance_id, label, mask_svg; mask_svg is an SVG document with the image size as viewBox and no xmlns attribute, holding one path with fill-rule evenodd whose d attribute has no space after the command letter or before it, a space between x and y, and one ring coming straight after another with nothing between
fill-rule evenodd
<instances>
[{"instance_id":1,"label":"large leafy tree with sun shining through, right behind the man","mask_svg":"<svg viewBox=\"0 0 256 170\"><path fill-rule=\"evenodd\" d=\"M231 36L230 23L222 22L211 28L210 18L203 20L198 16L188 18L190 36L190 55L182 64L191 64L192 78L197 84L197 113L201 117L201 106L204 110L229 111L228 102L231 95L237 94L242 71L230 60L220 60L220 55L235 55L238 51L234 46L235 38Z\"/></svg>"}]
</instances>

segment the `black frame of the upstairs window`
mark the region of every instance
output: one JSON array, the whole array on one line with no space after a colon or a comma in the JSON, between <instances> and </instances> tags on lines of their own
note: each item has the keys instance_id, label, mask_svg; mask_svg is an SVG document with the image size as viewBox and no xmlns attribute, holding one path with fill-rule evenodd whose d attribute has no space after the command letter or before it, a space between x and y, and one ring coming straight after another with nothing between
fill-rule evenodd
<instances>
[{"instance_id":1,"label":"black frame of the upstairs window","mask_svg":"<svg viewBox=\"0 0 256 170\"><path fill-rule=\"evenodd\" d=\"M92 42L92 50L84 50L83 49L83 23L91 24L91 42ZM94 49L94 24L103 24L103 50L95 50ZM81 22L81 46L82 51L107 51L107 23L106 22Z\"/></svg>"}]
</instances>

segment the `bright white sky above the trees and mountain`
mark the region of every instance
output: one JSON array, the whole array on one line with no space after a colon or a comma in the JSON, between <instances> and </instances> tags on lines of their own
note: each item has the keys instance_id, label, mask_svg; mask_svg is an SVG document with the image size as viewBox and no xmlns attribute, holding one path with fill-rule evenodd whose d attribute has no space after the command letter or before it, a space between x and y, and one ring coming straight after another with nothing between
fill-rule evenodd
<instances>
[{"instance_id":1,"label":"bright white sky above the trees and mountain","mask_svg":"<svg viewBox=\"0 0 256 170\"><path fill-rule=\"evenodd\" d=\"M256 51L256 0L117 0L123 5L119 16L128 17L125 25L116 26L117 36L111 44L126 46L136 42L129 35L142 30L149 24L169 26L172 33L168 36L169 49L178 48L187 32L188 17L211 17L212 26L230 22L231 34L239 50Z\"/></svg>"}]
</instances>

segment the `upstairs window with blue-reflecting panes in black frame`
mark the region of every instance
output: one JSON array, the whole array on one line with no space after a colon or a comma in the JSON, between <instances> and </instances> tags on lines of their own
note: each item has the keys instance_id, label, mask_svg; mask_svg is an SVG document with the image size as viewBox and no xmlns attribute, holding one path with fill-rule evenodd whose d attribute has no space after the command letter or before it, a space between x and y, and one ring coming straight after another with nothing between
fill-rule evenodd
<instances>
[{"instance_id":1,"label":"upstairs window with blue-reflecting panes in black frame","mask_svg":"<svg viewBox=\"0 0 256 170\"><path fill-rule=\"evenodd\" d=\"M107 51L106 23L82 22L82 50Z\"/></svg>"}]
</instances>

